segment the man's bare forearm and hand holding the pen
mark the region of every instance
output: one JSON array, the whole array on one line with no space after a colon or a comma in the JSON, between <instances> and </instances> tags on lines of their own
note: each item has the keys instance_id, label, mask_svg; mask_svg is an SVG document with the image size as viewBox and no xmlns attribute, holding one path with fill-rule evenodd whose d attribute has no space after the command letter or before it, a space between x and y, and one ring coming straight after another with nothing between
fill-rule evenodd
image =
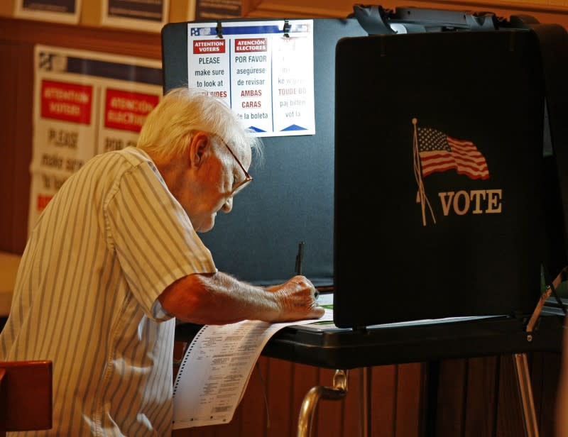
<instances>
[{"instance_id":1,"label":"man's bare forearm and hand holding the pen","mask_svg":"<svg viewBox=\"0 0 568 437\"><path fill-rule=\"evenodd\" d=\"M315 288L304 276L268 288L222 272L182 277L158 297L163 309L190 323L221 325L241 320L270 322L319 319Z\"/></svg>"}]
</instances>

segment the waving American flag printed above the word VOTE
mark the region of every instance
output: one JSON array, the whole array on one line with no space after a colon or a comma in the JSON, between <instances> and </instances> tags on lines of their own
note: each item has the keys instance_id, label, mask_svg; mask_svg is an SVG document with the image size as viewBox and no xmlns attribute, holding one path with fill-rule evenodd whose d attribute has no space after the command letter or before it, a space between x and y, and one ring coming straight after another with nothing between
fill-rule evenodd
<instances>
[{"instance_id":1,"label":"waving American flag printed above the word VOTE","mask_svg":"<svg viewBox=\"0 0 568 437\"><path fill-rule=\"evenodd\" d=\"M422 177L435 172L456 170L471 179L488 179L484 155L467 140L457 140L432 128L418 128L418 153Z\"/></svg>"}]
</instances>

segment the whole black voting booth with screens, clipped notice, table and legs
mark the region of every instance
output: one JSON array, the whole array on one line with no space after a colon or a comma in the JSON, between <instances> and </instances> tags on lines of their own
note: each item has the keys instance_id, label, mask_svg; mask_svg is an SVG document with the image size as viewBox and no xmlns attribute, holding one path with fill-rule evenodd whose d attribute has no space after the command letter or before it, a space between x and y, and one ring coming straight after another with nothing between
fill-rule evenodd
<instances>
[{"instance_id":1,"label":"whole black voting booth with screens, clipped notice, table and legs","mask_svg":"<svg viewBox=\"0 0 568 437\"><path fill-rule=\"evenodd\" d=\"M381 6L163 28L164 92L204 88L263 139L254 181L202 235L217 267L260 285L301 272L333 294L334 325L286 328L269 356L349 369L510 353L535 435L525 353L559 341L557 320L533 329L567 264L567 93L541 30ZM551 38L565 52L565 31Z\"/></svg>"}]
</instances>

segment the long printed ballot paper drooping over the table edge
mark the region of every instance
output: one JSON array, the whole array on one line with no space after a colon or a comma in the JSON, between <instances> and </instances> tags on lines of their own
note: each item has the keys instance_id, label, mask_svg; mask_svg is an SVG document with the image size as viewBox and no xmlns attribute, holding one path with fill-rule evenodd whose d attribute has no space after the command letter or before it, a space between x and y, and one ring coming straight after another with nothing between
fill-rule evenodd
<instances>
[{"instance_id":1,"label":"long printed ballot paper drooping over the table edge","mask_svg":"<svg viewBox=\"0 0 568 437\"><path fill-rule=\"evenodd\" d=\"M268 323L245 320L204 325L182 359L173 386L173 428L228 424L244 395L264 346L280 329L333 321L333 310L321 319Z\"/></svg>"}]
</instances>

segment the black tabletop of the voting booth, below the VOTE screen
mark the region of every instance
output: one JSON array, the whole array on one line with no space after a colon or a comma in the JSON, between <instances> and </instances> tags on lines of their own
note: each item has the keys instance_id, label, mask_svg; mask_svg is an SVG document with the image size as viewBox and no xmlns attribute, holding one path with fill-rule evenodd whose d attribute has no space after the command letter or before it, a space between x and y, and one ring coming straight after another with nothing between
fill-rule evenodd
<instances>
[{"instance_id":1,"label":"black tabletop of the voting booth, below the VOTE screen","mask_svg":"<svg viewBox=\"0 0 568 437\"><path fill-rule=\"evenodd\" d=\"M562 348L564 315L542 309L528 333L528 317L491 316L388 323L365 329L331 324L287 326L266 343L262 355L329 369L418 363L451 358L511 355ZM175 337L191 341L200 325L179 323Z\"/></svg>"}]
</instances>

